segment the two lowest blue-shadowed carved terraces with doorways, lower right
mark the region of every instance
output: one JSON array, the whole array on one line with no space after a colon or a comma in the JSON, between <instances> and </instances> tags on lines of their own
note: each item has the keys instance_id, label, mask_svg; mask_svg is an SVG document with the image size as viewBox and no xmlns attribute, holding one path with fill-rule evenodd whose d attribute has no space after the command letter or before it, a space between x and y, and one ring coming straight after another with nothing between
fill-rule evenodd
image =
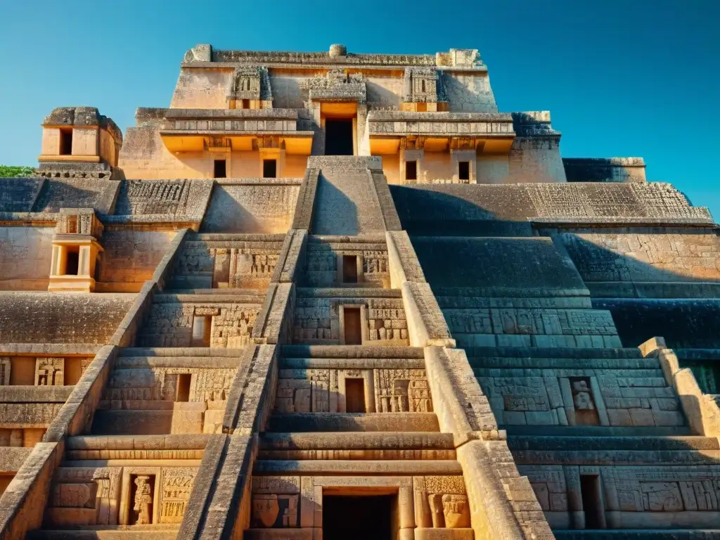
<instances>
[{"instance_id":1,"label":"two lowest blue-shadowed carved terraces with doorways, lower right","mask_svg":"<svg viewBox=\"0 0 720 540\"><path fill-rule=\"evenodd\" d=\"M467 354L557 538L720 538L718 439L692 435L657 357L637 348Z\"/></svg>"}]
</instances>

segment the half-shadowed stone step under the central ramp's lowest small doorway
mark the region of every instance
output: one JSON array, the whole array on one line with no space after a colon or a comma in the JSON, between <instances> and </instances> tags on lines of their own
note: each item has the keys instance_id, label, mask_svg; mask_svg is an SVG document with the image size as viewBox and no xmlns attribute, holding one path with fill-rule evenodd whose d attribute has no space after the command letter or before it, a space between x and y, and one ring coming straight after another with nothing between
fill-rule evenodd
<instances>
[{"instance_id":1,"label":"half-shadowed stone step under the central ramp's lowest small doorway","mask_svg":"<svg viewBox=\"0 0 720 540\"><path fill-rule=\"evenodd\" d=\"M266 431L440 431L435 413L284 413L270 417Z\"/></svg>"}]
</instances>

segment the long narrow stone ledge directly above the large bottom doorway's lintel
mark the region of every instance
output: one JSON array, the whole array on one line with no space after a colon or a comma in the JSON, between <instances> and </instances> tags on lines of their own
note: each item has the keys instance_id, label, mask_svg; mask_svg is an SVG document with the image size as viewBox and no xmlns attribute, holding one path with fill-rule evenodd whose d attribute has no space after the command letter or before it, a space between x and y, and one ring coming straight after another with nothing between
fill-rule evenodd
<instances>
[{"instance_id":1,"label":"long narrow stone ledge directly above the large bottom doorway's lintel","mask_svg":"<svg viewBox=\"0 0 720 540\"><path fill-rule=\"evenodd\" d=\"M307 459L304 461L258 459L253 474L343 474L367 476L370 474L462 474L460 464L452 459Z\"/></svg>"}]
</instances>

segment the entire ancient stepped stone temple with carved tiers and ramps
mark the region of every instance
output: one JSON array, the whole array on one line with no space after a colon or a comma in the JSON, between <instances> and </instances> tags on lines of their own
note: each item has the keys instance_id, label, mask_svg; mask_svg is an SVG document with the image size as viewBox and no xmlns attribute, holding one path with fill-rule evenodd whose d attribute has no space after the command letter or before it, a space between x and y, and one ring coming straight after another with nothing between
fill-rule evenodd
<instances>
[{"instance_id":1,"label":"entire ancient stepped stone temple with carved tiers and ramps","mask_svg":"<svg viewBox=\"0 0 720 540\"><path fill-rule=\"evenodd\" d=\"M720 538L718 229L559 143L477 50L197 45L125 134L50 112L0 538Z\"/></svg>"}]
</instances>

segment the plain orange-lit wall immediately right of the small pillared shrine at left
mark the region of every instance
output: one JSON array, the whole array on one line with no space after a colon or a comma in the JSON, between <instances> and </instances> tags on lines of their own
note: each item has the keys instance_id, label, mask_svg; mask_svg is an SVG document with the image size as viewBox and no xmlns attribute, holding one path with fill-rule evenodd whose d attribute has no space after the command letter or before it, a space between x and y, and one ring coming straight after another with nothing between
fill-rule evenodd
<instances>
[{"instance_id":1,"label":"plain orange-lit wall immediately right of the small pillared shrine at left","mask_svg":"<svg viewBox=\"0 0 720 540\"><path fill-rule=\"evenodd\" d=\"M113 284L142 283L153 276L174 230L106 230L100 259L99 280Z\"/></svg>"}]
</instances>

